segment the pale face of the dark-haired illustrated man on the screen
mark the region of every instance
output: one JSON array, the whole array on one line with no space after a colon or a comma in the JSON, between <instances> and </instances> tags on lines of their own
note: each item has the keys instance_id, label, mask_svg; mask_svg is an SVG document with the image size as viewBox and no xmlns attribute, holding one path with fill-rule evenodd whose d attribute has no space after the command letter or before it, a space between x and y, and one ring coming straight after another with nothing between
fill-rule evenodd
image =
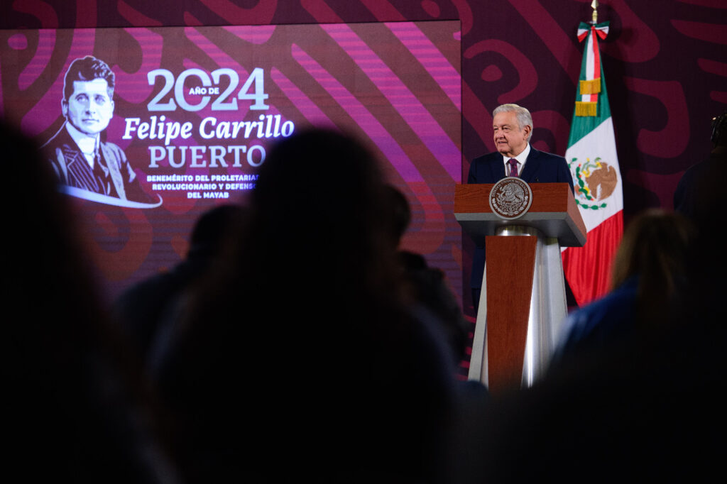
<instances>
[{"instance_id":1,"label":"pale face of the dark-haired illustrated man on the screen","mask_svg":"<svg viewBox=\"0 0 727 484\"><path fill-rule=\"evenodd\" d=\"M61 103L63 116L81 133L99 134L113 117L113 100L105 79L73 81L73 94Z\"/></svg>"}]
</instances>

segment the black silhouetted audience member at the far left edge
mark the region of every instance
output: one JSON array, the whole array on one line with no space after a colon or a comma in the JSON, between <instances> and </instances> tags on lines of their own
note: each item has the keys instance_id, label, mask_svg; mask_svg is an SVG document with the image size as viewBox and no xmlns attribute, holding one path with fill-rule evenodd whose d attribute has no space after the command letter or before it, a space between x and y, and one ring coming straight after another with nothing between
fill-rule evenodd
<instances>
[{"instance_id":1,"label":"black silhouetted audience member at the far left edge","mask_svg":"<svg viewBox=\"0 0 727 484\"><path fill-rule=\"evenodd\" d=\"M107 324L50 166L0 125L4 474L23 482L175 483L138 366ZM14 477L13 477L14 476Z\"/></svg>"}]
</instances>

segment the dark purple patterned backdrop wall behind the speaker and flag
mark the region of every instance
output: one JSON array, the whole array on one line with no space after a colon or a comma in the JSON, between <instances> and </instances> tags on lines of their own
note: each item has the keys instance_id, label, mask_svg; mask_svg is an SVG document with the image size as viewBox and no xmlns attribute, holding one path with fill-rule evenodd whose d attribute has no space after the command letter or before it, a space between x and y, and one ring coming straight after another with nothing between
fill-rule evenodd
<instances>
[{"instance_id":1,"label":"dark purple patterned backdrop wall behind the speaker and flag","mask_svg":"<svg viewBox=\"0 0 727 484\"><path fill-rule=\"evenodd\" d=\"M492 108L534 113L534 141L563 154L590 0L15 0L1 28L264 25L461 20L467 159L493 148ZM603 63L627 216L671 206L680 174L710 149L710 118L727 107L727 4L603 0ZM464 166L463 169L466 169Z\"/></svg>"}]
</instances>

